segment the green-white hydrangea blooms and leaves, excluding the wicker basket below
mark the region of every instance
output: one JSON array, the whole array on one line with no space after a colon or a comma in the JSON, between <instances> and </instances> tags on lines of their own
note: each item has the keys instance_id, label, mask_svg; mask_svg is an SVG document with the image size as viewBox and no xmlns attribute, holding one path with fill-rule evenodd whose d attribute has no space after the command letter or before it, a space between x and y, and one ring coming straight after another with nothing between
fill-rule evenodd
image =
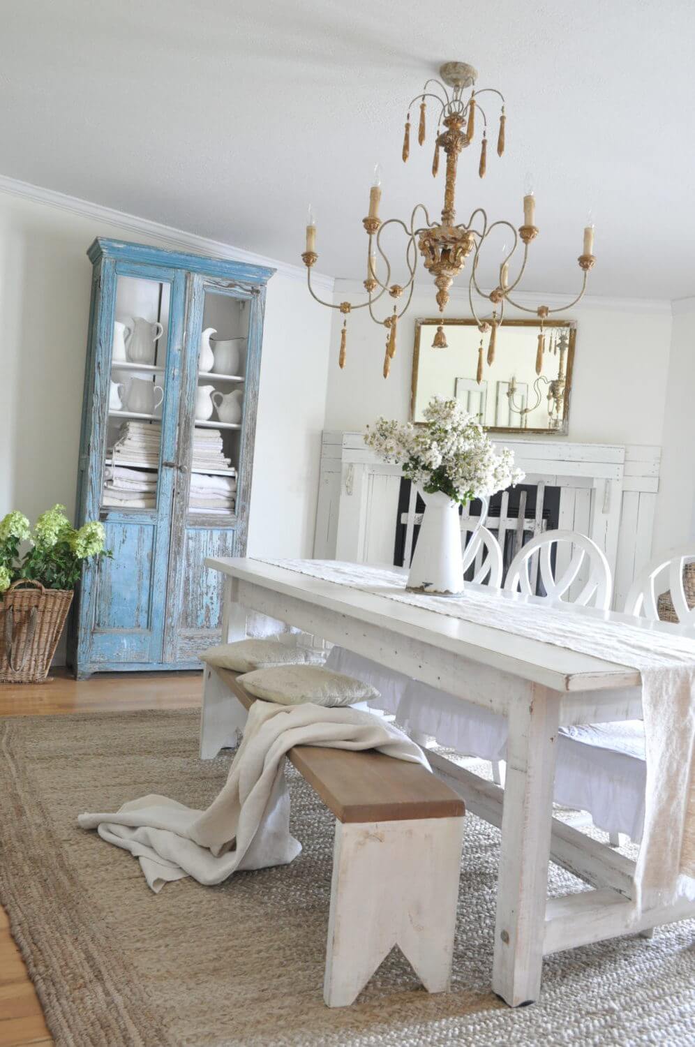
<instances>
[{"instance_id":1,"label":"green-white hydrangea blooms and leaves, excluding the wicker basket below","mask_svg":"<svg viewBox=\"0 0 695 1047\"><path fill-rule=\"evenodd\" d=\"M112 556L104 548L106 532L98 520L75 530L65 506L53 506L37 519L33 532L22 513L7 513L0 520L0 593L20 578L41 582L46 588L73 589L84 560ZM29 548L20 555L22 542Z\"/></svg>"}]
</instances>

